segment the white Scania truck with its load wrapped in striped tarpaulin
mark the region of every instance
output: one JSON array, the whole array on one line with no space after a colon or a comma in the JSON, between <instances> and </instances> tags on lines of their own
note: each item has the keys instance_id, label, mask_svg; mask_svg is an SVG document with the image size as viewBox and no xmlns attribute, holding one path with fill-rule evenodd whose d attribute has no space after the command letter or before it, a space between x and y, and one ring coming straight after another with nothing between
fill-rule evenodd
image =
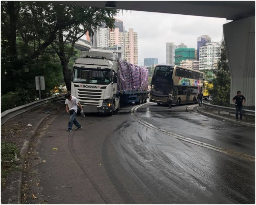
<instances>
[{"instance_id":1,"label":"white Scania truck with its load wrapped in striped tarpaulin","mask_svg":"<svg viewBox=\"0 0 256 205\"><path fill-rule=\"evenodd\" d=\"M82 51L73 65L71 94L84 112L113 115L126 103L146 103L148 69L122 61L116 53Z\"/></svg>"}]
</instances>

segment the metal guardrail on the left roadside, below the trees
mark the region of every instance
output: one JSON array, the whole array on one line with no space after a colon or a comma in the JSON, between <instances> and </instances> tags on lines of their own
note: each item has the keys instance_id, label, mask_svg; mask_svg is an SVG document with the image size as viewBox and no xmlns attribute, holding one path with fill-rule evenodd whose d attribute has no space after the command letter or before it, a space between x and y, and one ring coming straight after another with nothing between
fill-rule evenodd
<instances>
[{"instance_id":1,"label":"metal guardrail on the left roadside, below the trees","mask_svg":"<svg viewBox=\"0 0 256 205\"><path fill-rule=\"evenodd\" d=\"M59 95L59 96L56 96L56 97L48 97L48 98L43 99L43 100L37 100L35 102L28 103L26 105L21 105L21 106L18 106L16 108L8 109L8 110L1 113L1 126L3 124L5 124L9 119L11 119L13 117L16 117L17 115L20 115L24 112L27 112L32 108L38 107L40 105L43 105L43 104L46 104L46 103L49 103L49 102L61 100L62 98L65 99L64 96L65 95L63 94L63 95Z\"/></svg>"}]
</instances>

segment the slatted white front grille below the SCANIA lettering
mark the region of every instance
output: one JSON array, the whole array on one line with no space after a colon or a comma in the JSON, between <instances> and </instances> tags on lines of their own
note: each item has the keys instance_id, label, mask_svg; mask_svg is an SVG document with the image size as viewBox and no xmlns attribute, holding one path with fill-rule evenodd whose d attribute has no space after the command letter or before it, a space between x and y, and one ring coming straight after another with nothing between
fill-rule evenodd
<instances>
[{"instance_id":1,"label":"slatted white front grille below the SCANIA lettering","mask_svg":"<svg viewBox=\"0 0 256 205\"><path fill-rule=\"evenodd\" d=\"M77 89L78 100L82 105L101 106L102 90Z\"/></svg>"}]
</instances>

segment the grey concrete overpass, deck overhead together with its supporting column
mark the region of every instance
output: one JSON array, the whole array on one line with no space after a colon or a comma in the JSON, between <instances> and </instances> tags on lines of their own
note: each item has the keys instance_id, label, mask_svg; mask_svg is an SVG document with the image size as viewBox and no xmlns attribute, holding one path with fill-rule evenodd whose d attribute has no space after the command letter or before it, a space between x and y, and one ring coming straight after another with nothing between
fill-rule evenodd
<instances>
[{"instance_id":1,"label":"grey concrete overpass, deck overhead together with its supporting column","mask_svg":"<svg viewBox=\"0 0 256 205\"><path fill-rule=\"evenodd\" d=\"M59 2L58 2L59 3ZM65 1L66 4L233 20L223 25L231 73L230 105L237 90L255 109L255 1Z\"/></svg>"}]
</instances>

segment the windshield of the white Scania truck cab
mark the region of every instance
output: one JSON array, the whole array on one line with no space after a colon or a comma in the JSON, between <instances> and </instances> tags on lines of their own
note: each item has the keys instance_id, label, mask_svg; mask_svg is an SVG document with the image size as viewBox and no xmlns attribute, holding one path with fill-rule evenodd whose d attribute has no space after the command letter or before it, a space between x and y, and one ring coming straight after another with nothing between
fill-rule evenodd
<instances>
[{"instance_id":1,"label":"windshield of the white Scania truck cab","mask_svg":"<svg viewBox=\"0 0 256 205\"><path fill-rule=\"evenodd\" d=\"M108 85L112 82L111 70L74 68L73 82Z\"/></svg>"}]
</instances>

